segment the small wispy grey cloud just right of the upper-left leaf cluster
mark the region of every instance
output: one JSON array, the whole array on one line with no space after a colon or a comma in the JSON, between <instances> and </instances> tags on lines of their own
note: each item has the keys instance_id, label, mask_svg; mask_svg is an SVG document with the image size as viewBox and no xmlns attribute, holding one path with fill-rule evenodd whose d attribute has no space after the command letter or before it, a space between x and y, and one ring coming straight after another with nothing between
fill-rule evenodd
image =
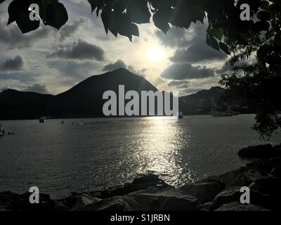
<instances>
[{"instance_id":1,"label":"small wispy grey cloud just right of the upper-left leaf cluster","mask_svg":"<svg viewBox=\"0 0 281 225\"><path fill-rule=\"evenodd\" d=\"M60 41L64 41L67 37L71 37L89 22L89 18L79 17L77 20L74 20L73 23L64 25L59 31Z\"/></svg>"}]
</instances>

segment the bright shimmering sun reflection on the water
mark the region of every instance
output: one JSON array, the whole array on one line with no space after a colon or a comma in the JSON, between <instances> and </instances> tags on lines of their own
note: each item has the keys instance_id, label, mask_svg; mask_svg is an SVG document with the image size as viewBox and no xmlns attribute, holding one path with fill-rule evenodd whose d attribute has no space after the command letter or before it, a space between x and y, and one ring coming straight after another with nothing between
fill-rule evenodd
<instances>
[{"instance_id":1,"label":"bright shimmering sun reflection on the water","mask_svg":"<svg viewBox=\"0 0 281 225\"><path fill-rule=\"evenodd\" d=\"M154 172L164 179L166 177L170 184L176 184L185 167L180 149L188 145L188 137L183 135L174 118L149 117L144 120L146 126L141 130L134 155L141 165L139 172Z\"/></svg>"}]
</instances>

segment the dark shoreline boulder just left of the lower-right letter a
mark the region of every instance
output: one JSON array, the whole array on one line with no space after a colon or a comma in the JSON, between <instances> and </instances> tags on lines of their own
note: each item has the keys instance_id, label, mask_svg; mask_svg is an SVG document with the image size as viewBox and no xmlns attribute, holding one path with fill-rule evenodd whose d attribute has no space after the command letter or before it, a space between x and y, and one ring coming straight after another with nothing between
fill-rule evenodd
<instances>
[{"instance_id":1,"label":"dark shoreline boulder just left of the lower-right letter a","mask_svg":"<svg viewBox=\"0 0 281 225\"><path fill-rule=\"evenodd\" d=\"M181 187L181 191L195 196L200 204L211 202L225 188L221 182L199 182Z\"/></svg>"}]
</instances>

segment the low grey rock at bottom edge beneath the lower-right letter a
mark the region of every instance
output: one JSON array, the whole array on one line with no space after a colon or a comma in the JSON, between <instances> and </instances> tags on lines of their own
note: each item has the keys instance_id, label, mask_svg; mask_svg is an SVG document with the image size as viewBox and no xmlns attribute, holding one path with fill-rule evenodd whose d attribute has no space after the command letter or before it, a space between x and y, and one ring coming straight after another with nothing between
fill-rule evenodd
<instances>
[{"instance_id":1,"label":"low grey rock at bottom edge beneath the lower-right letter a","mask_svg":"<svg viewBox=\"0 0 281 225\"><path fill-rule=\"evenodd\" d=\"M266 208L260 207L259 205L244 205L240 202L231 202L222 205L216 211L270 211Z\"/></svg>"}]
</instances>

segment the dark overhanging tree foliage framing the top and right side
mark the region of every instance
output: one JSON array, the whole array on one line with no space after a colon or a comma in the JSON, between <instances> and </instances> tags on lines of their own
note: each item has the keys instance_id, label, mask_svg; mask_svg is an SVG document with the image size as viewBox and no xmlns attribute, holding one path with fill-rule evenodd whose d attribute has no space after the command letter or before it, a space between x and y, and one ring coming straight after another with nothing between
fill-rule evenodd
<instances>
[{"instance_id":1,"label":"dark overhanging tree foliage framing the top and right side","mask_svg":"<svg viewBox=\"0 0 281 225\"><path fill-rule=\"evenodd\" d=\"M0 4L5 0L0 0ZM86 0L85 0L86 1ZM91 12L100 16L105 32L132 40L139 36L138 25L150 23L165 34L170 27L188 29L207 21L206 41L217 51L231 55L231 75L223 75L226 96L240 96L256 106L254 129L270 137L281 127L281 1L280 0L88 0ZM13 0L8 6L8 25L15 22L22 33L37 30L38 20L30 20L29 7L38 4L44 25L57 28L68 20L67 10L58 0ZM241 20L240 6L247 4L250 20ZM236 66L251 59L250 64Z\"/></svg>"}]
</instances>

